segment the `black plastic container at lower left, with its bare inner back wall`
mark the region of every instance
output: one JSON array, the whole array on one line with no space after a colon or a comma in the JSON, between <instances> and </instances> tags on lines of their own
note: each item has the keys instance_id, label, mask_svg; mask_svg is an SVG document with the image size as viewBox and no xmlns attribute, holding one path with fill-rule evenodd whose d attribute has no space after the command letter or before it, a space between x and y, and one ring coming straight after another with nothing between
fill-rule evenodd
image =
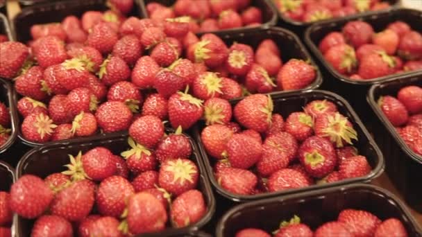
<instances>
[{"instance_id":1,"label":"black plastic container at lower left, with its bare inner back wall","mask_svg":"<svg viewBox=\"0 0 422 237\"><path fill-rule=\"evenodd\" d=\"M82 152L87 152L87 150L96 146L108 148L117 155L128 149L127 140L128 135L121 133L119 135L108 135L101 138L76 139L76 141L72 142L56 142L40 146L29 151L22 157L16 168L16 177L19 178L25 174L32 174L44 178L51 173L61 172L65 170L64 165L69 163L69 154L76 155L80 150ZM183 236L183 234L187 234L190 231L194 232L199 230L199 228L203 227L203 225L212 218L215 209L214 195L212 194L212 189L205 175L205 168L200 161L200 153L196 143L194 143L190 137L189 141L192 145L191 159L196 163L200 172L198 189L204 195L208 212L194 225L180 229L167 229L166 231L148 236ZM26 220L19 217L17 218L15 231L18 236L29 236L31 234L32 225L33 220Z\"/></svg>"}]
</instances>

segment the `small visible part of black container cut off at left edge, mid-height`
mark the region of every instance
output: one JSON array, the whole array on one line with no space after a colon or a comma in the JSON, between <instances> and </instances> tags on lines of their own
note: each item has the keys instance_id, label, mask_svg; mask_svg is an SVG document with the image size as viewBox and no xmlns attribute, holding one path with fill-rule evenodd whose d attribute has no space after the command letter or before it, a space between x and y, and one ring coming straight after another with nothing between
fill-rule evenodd
<instances>
[{"instance_id":1,"label":"small visible part of black container cut off at left edge, mid-height","mask_svg":"<svg viewBox=\"0 0 422 237\"><path fill-rule=\"evenodd\" d=\"M17 137L17 111L15 107L15 92L12 89L12 85L10 85L10 82L3 80L0 78L0 101L4 103L8 108L10 112L10 137L6 143L3 144L3 146L0 147L0 153L6 152L10 146L15 142ZM3 179L0 179L3 180Z\"/></svg>"}]
</instances>

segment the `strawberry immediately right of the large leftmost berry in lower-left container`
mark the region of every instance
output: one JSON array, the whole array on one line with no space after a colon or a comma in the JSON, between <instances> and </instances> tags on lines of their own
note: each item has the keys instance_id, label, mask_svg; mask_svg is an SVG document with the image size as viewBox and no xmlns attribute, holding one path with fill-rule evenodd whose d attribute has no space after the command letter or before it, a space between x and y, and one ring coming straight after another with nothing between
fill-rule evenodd
<instances>
[{"instance_id":1,"label":"strawberry immediately right of the large leftmost berry in lower-left container","mask_svg":"<svg viewBox=\"0 0 422 237\"><path fill-rule=\"evenodd\" d=\"M56 194L50 206L53 215L69 221L83 220L94 206L94 183L80 180Z\"/></svg>"}]
</instances>

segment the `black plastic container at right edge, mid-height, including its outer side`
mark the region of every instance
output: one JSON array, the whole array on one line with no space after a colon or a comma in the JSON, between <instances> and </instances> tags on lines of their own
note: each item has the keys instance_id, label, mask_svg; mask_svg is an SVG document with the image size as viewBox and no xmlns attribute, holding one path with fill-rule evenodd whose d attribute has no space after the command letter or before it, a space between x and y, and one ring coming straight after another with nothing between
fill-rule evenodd
<instances>
[{"instance_id":1,"label":"black plastic container at right edge, mid-height, including its outer side","mask_svg":"<svg viewBox=\"0 0 422 237\"><path fill-rule=\"evenodd\" d=\"M377 104L380 96L396 96L399 89L408 85L422 86L422 76L375 84L369 90L368 103L379 119L374 137L385 154L387 175L407 204L422 212L422 189L418 184L418 180L422 179L422 156L406 145Z\"/></svg>"}]
</instances>

